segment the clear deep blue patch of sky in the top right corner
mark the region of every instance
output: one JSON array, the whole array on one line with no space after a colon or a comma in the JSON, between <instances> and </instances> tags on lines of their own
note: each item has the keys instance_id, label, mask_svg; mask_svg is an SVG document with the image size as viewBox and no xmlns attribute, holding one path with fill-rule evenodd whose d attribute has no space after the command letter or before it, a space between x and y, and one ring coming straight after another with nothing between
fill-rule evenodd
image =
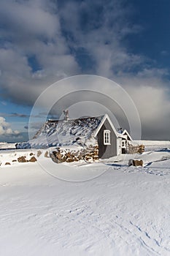
<instances>
[{"instance_id":1,"label":"clear deep blue patch of sky in the top right corner","mask_svg":"<svg viewBox=\"0 0 170 256\"><path fill-rule=\"evenodd\" d=\"M134 22L139 23L143 31L131 37L130 46L135 53L144 54L155 60L158 67L169 68L170 2L134 0L131 3L136 10Z\"/></svg>"}]
</instances>

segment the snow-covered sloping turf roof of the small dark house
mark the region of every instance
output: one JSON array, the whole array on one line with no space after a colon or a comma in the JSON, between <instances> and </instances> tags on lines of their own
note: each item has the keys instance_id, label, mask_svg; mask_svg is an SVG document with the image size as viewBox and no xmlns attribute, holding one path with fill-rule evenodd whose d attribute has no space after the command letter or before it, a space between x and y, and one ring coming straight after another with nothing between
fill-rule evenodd
<instances>
[{"instance_id":1,"label":"snow-covered sloping turf roof of the small dark house","mask_svg":"<svg viewBox=\"0 0 170 256\"><path fill-rule=\"evenodd\" d=\"M32 140L18 143L17 148L49 148L52 146L96 145L93 132L103 116L64 120L49 120L36 133Z\"/></svg>"}]
</instances>

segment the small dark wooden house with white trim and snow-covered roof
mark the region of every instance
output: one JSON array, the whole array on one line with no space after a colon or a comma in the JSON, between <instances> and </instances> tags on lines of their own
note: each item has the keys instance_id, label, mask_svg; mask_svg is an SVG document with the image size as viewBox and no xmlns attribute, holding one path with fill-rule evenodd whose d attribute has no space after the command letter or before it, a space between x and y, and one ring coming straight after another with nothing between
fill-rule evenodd
<instances>
[{"instance_id":1,"label":"small dark wooden house with white trim and snow-covered roof","mask_svg":"<svg viewBox=\"0 0 170 256\"><path fill-rule=\"evenodd\" d=\"M117 132L107 114L98 117L70 119L65 111L63 120L49 119L28 143L19 143L18 148L98 148L98 158L107 159L127 153L131 136L125 130Z\"/></svg>"}]
</instances>

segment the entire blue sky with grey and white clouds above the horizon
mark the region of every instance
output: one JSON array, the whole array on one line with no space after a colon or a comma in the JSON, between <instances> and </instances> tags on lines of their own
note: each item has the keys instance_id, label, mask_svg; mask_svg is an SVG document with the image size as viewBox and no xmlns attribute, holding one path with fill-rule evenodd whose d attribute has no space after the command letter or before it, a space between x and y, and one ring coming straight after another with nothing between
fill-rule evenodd
<instances>
[{"instance_id":1,"label":"entire blue sky with grey and white clouds above the horizon","mask_svg":"<svg viewBox=\"0 0 170 256\"><path fill-rule=\"evenodd\" d=\"M0 141L28 140L37 97L85 74L127 91L143 139L169 140L169 10L169 0L1 0Z\"/></svg>"}]
</instances>

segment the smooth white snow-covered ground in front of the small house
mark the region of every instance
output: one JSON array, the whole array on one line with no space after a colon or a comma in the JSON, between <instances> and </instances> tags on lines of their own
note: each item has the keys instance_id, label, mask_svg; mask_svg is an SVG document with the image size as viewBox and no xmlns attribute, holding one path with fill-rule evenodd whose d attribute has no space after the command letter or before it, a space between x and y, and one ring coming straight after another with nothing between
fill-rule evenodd
<instances>
[{"instance_id":1,"label":"smooth white snow-covered ground in front of the small house","mask_svg":"<svg viewBox=\"0 0 170 256\"><path fill-rule=\"evenodd\" d=\"M43 152L1 165L0 255L170 255L169 148L93 164L55 164ZM1 151L1 161L31 152ZM128 167L132 157L144 167ZM92 179L59 179L81 177Z\"/></svg>"}]
</instances>

